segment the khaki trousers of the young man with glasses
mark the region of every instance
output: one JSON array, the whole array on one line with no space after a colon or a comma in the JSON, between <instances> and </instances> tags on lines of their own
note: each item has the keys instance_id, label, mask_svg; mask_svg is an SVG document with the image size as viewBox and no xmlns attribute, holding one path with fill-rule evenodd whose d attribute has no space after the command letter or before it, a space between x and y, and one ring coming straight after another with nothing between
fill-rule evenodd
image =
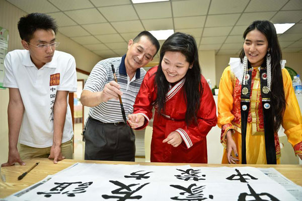
<instances>
[{"instance_id":1,"label":"khaki trousers of the young man with glasses","mask_svg":"<svg viewBox=\"0 0 302 201\"><path fill-rule=\"evenodd\" d=\"M22 160L29 159L29 158L48 158L50 154L50 148L35 148L35 147L29 147L26 145L20 144L20 157ZM66 159L72 159L72 139L62 143L61 144L61 152L62 156L64 156Z\"/></svg>"}]
</instances>

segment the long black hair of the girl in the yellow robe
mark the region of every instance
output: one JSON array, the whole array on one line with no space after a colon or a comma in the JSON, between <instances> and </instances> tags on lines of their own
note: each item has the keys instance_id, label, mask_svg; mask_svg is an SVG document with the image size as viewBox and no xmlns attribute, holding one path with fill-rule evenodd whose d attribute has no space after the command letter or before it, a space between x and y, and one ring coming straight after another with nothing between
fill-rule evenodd
<instances>
[{"instance_id":1,"label":"long black hair of the girl in the yellow robe","mask_svg":"<svg viewBox=\"0 0 302 201\"><path fill-rule=\"evenodd\" d=\"M247 34L253 30L258 30L263 33L268 41L268 52L271 55L271 106L275 118L274 131L277 132L280 128L286 105L280 64L282 52L273 23L266 20L254 21L245 30L243 38L245 39ZM241 62L243 62L244 56L244 49L242 49L240 52ZM264 62L266 62L266 59L264 59Z\"/></svg>"}]
</instances>

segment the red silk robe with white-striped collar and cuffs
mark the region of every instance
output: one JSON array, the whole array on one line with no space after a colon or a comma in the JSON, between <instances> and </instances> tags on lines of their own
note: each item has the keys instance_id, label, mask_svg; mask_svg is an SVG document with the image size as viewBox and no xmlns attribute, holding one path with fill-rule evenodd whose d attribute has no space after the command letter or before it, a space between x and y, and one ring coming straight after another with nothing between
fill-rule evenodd
<instances>
[{"instance_id":1,"label":"red silk robe with white-striped collar and cuffs","mask_svg":"<svg viewBox=\"0 0 302 201\"><path fill-rule=\"evenodd\" d=\"M203 76L201 84L203 93L200 97L200 108L197 114L197 124L186 125L186 100L184 96L184 81L179 81L167 94L165 114L159 114L157 105L154 105L157 98L155 77L158 66L150 69L141 84L136 96L134 112L145 117L143 129L152 118L152 109L155 107L153 122L153 135L151 142L151 162L172 162L172 163L207 163L206 135L216 125L216 106L211 90ZM178 147L173 147L162 141L172 132L177 131L183 139Z\"/></svg>"}]
</instances>

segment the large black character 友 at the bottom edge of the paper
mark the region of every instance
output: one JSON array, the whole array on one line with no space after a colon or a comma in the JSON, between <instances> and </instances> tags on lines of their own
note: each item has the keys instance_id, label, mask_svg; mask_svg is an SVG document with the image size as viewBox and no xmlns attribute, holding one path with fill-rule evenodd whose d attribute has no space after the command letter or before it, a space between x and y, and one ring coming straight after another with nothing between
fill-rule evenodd
<instances>
[{"instance_id":1,"label":"large black character \u53cb at the bottom edge of the paper","mask_svg":"<svg viewBox=\"0 0 302 201\"><path fill-rule=\"evenodd\" d=\"M135 190L131 190L132 186L136 186L137 184L130 184L130 185L125 185L119 181L110 181L111 183L120 186L120 188L116 189L116 190L112 190L111 193L112 194L122 194L123 196L118 196L118 195L102 195L103 198L105 199L110 199L110 198L117 198L117 201L124 201L126 199L140 199L142 196L141 195L136 195L136 196L131 196L132 194L134 194L135 192L137 192L138 190L140 190L143 186L149 184L149 183L144 183L141 186L138 186ZM124 190L124 191L122 191Z\"/></svg>"}]
</instances>

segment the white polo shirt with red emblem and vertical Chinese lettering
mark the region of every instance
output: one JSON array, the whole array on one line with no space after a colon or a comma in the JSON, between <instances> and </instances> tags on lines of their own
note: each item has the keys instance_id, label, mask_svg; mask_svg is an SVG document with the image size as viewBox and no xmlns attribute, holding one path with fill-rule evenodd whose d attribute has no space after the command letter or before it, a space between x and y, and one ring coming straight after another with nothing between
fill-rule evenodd
<instances>
[{"instance_id":1,"label":"white polo shirt with red emblem and vertical Chinese lettering","mask_svg":"<svg viewBox=\"0 0 302 201\"><path fill-rule=\"evenodd\" d=\"M3 86L18 88L24 104L20 143L35 148L52 146L53 105L57 91L77 91L74 57L55 50L51 62L37 69L28 50L9 52L4 61ZM62 143L73 136L67 97L67 111Z\"/></svg>"}]
</instances>

